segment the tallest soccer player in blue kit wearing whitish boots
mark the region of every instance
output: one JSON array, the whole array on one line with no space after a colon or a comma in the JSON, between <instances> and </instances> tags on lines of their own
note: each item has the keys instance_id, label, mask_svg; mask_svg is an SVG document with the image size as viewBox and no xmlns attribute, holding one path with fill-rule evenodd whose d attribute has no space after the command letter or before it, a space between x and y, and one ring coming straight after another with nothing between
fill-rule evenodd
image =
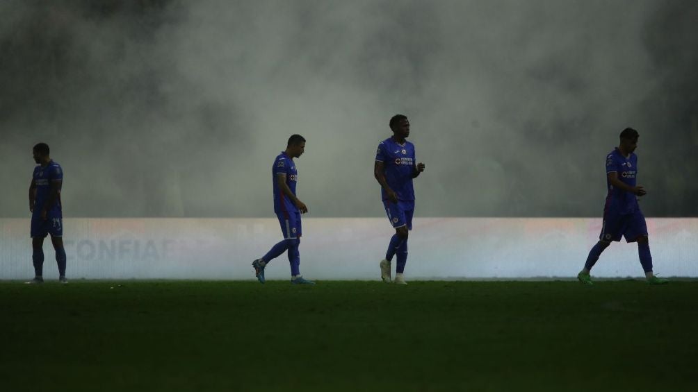
<instances>
[{"instance_id":1,"label":"tallest soccer player in blue kit wearing whitish boots","mask_svg":"<svg viewBox=\"0 0 698 392\"><path fill-rule=\"evenodd\" d=\"M373 175L380 184L383 206L395 234L390 239L385 259L380 261L380 279L389 283L390 264L397 255L395 283L406 285L403 277L407 262L408 230L412 230L412 215L415 211L413 178L424 171L424 164L417 164L415 145L407 141L410 122L406 116L396 114L390 118L393 136L381 141L376 152Z\"/></svg>"}]
</instances>

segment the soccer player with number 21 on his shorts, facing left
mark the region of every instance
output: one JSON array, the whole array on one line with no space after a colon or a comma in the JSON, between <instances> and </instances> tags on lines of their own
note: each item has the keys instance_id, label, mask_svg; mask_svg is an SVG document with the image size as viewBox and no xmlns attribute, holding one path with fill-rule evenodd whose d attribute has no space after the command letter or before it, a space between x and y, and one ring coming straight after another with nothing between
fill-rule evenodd
<instances>
[{"instance_id":1,"label":"soccer player with number 21 on his shorts, facing left","mask_svg":"<svg viewBox=\"0 0 698 392\"><path fill-rule=\"evenodd\" d=\"M27 283L43 283L43 240L51 235L56 251L59 282L66 279L66 250L63 247L63 214L61 212L61 187L63 169L53 162L46 143L34 146L34 175L29 185L29 211L31 211L31 247L34 262L34 279Z\"/></svg>"}]
</instances>

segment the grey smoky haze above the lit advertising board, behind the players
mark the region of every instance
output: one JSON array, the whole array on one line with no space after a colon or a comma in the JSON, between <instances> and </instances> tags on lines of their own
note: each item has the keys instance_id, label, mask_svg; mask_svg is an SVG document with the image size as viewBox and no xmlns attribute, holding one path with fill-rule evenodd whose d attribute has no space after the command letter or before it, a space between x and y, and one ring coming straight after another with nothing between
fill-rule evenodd
<instances>
[{"instance_id":1,"label":"grey smoky haze above the lit advertising board, behind the players","mask_svg":"<svg viewBox=\"0 0 698 392\"><path fill-rule=\"evenodd\" d=\"M0 217L31 147L65 217L272 217L306 137L311 217L380 217L395 113L420 217L599 217L605 155L639 130L641 205L698 216L698 2L0 1Z\"/></svg>"}]
</instances>

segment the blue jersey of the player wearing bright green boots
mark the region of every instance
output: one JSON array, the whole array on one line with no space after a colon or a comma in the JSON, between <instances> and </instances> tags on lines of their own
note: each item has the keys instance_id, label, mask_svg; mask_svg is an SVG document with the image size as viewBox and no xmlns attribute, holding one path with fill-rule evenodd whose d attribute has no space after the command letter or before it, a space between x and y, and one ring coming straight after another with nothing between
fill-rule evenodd
<instances>
[{"instance_id":1,"label":"blue jersey of the player wearing bright green boots","mask_svg":"<svg viewBox=\"0 0 698 392\"><path fill-rule=\"evenodd\" d=\"M634 187L637 183L637 155L630 154L630 157L624 157L621 151L616 148L611 151L606 157L606 185L608 187L608 196L606 196L606 205L604 212L612 211L618 214L632 214L639 209L637 204L637 196L634 194L618 189L611 185L608 179L608 173L618 173L618 180Z\"/></svg>"}]
</instances>

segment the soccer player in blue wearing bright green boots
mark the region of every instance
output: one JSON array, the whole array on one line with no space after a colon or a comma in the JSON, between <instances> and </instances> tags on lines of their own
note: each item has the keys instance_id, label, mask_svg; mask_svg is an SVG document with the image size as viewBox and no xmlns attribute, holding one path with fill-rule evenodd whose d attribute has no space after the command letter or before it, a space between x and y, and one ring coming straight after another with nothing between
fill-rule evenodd
<instances>
[{"instance_id":1,"label":"soccer player in blue wearing bright green boots","mask_svg":"<svg viewBox=\"0 0 698 392\"><path fill-rule=\"evenodd\" d=\"M652 272L652 255L647 235L645 217L637 200L645 196L644 187L637 185L637 148L639 134L632 128L621 132L620 145L606 157L606 184L608 196L604 206L604 221L599 242L589 252L584 268L577 274L581 283L593 284L589 272L601 253L611 241L637 242L640 264L645 271L647 283L660 285L667 279L660 279Z\"/></svg>"}]
</instances>

